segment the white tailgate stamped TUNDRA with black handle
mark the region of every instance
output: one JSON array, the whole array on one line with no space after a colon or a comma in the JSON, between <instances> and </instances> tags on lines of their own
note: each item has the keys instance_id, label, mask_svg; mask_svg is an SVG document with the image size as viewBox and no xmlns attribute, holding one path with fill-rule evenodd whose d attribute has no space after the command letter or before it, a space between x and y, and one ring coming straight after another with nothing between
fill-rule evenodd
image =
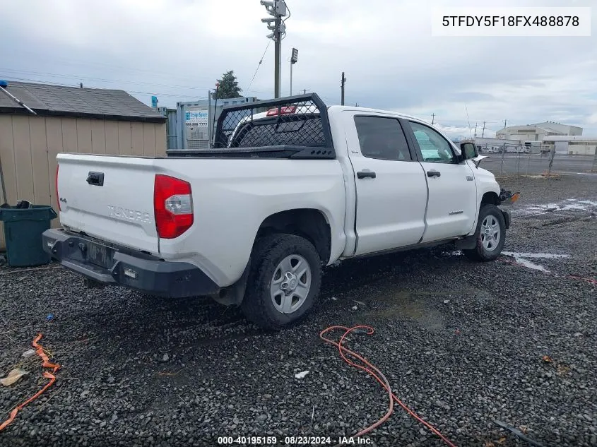
<instances>
[{"instance_id":1,"label":"white tailgate stamped TUNDRA with black handle","mask_svg":"<svg viewBox=\"0 0 597 447\"><path fill-rule=\"evenodd\" d=\"M154 160L58 154L60 223L107 242L158 253Z\"/></svg>"}]
</instances>

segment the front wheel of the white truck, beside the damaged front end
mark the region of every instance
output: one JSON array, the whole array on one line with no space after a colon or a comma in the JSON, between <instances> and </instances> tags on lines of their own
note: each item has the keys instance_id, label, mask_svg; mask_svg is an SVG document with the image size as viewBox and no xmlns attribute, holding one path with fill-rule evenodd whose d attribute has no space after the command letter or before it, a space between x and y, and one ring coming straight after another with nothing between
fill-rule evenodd
<instances>
[{"instance_id":1,"label":"front wheel of the white truck, beside the damaged front end","mask_svg":"<svg viewBox=\"0 0 597 447\"><path fill-rule=\"evenodd\" d=\"M474 249L463 250L473 261L494 261L500 256L506 242L506 221L502 210L495 205L482 205L479 210L476 245Z\"/></svg>"}]
</instances>

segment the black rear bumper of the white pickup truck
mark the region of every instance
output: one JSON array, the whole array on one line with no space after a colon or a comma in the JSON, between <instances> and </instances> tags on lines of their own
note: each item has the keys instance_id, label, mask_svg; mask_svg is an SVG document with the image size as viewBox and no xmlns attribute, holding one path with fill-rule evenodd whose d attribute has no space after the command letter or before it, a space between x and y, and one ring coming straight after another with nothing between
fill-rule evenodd
<instances>
[{"instance_id":1,"label":"black rear bumper of the white pickup truck","mask_svg":"<svg viewBox=\"0 0 597 447\"><path fill-rule=\"evenodd\" d=\"M163 261L64 230L46 230L42 244L62 266L104 285L122 285L172 298L213 294L220 290L199 267L190 263ZM109 253L104 266L92 263L88 256L92 247L97 249L98 246Z\"/></svg>"}]
</instances>

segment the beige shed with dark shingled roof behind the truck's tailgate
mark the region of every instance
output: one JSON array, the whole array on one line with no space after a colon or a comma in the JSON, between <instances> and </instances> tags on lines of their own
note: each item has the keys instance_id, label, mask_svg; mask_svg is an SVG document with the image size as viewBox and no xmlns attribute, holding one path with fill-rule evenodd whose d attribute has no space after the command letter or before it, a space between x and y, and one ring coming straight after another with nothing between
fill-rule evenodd
<instances>
[{"instance_id":1,"label":"beige shed with dark shingled roof behind the truck's tailgate","mask_svg":"<svg viewBox=\"0 0 597 447\"><path fill-rule=\"evenodd\" d=\"M57 210L57 153L166 154L166 118L123 90L8 81L6 91L36 114L0 92L0 176L6 189L0 203L27 200ZM52 226L59 227L58 219Z\"/></svg>"}]
</instances>

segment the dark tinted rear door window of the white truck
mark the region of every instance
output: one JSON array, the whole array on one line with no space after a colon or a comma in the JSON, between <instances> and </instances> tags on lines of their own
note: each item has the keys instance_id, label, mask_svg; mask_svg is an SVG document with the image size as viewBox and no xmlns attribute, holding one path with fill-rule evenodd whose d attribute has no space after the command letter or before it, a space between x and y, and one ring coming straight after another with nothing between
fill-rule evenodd
<instances>
[{"instance_id":1,"label":"dark tinted rear door window of the white truck","mask_svg":"<svg viewBox=\"0 0 597 447\"><path fill-rule=\"evenodd\" d=\"M395 118L355 117L361 153L379 160L411 161L406 136Z\"/></svg>"}]
</instances>

